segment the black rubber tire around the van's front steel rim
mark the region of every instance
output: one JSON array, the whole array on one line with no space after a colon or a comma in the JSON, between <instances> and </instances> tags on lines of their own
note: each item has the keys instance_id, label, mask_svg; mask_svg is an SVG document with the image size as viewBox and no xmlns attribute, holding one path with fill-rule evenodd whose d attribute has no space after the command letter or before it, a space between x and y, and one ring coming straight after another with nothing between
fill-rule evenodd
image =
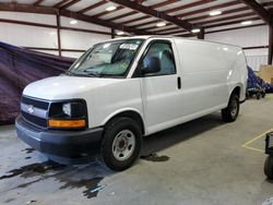
<instances>
[{"instance_id":1,"label":"black rubber tire around the van's front steel rim","mask_svg":"<svg viewBox=\"0 0 273 205\"><path fill-rule=\"evenodd\" d=\"M128 158L123 160L121 159L119 160L115 156L114 149L115 148L121 149L119 147L120 144L118 144L118 146L116 147L114 143L117 142L115 141L117 137L120 137L121 132L128 132L128 131L132 133L132 134L128 133L128 135L131 135L129 137L134 137L134 145L131 145L132 146L131 148L133 148L133 150L129 150L129 146L130 146L128 145L129 143L127 143L126 145L122 144L121 148L128 145L127 146L128 150L127 148L126 150L129 153L131 152L131 154L130 156L128 155ZM126 135L126 138L128 138L128 135ZM123 143L124 142L126 141L123 141ZM104 138L103 138L102 146L100 146L102 162L106 167L115 171L126 170L129 167L131 167L132 164L135 161L135 159L139 157L141 145L142 145L142 133L141 133L140 125L131 118L124 118L124 117L116 118L111 120L105 128Z\"/></svg>"}]
</instances>

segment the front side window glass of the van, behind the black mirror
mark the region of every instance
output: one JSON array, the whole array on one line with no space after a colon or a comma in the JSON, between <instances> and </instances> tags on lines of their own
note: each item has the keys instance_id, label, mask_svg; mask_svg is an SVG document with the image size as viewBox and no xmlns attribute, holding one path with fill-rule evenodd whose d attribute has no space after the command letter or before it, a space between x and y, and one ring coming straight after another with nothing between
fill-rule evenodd
<instances>
[{"instance_id":1,"label":"front side window glass of the van, behind the black mirror","mask_svg":"<svg viewBox=\"0 0 273 205\"><path fill-rule=\"evenodd\" d=\"M147 76L154 75L169 75L176 73L176 67L174 61L174 53L171 45L166 41L155 41L150 46L143 62L142 67L145 68L147 64L147 59L151 57L156 57L161 61L161 71L157 73L150 73Z\"/></svg>"}]
</instances>

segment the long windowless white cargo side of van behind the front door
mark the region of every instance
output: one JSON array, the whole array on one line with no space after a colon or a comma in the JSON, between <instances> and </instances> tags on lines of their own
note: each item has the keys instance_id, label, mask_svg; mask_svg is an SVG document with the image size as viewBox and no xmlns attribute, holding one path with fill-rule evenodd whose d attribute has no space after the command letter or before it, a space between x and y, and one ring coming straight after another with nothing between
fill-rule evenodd
<instances>
[{"instance_id":1,"label":"long windowless white cargo side of van behind the front door","mask_svg":"<svg viewBox=\"0 0 273 205\"><path fill-rule=\"evenodd\" d=\"M180 60L183 121L227 106L241 87L245 99L245 56L240 48L199 40L175 39Z\"/></svg>"}]
</instances>

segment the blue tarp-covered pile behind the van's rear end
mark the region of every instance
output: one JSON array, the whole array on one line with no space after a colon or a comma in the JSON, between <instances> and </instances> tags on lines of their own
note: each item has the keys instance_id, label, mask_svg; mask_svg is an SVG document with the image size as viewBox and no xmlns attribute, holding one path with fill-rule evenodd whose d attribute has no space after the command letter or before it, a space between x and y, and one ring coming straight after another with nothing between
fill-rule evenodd
<instances>
[{"instance_id":1,"label":"blue tarp-covered pile behind the van's rear end","mask_svg":"<svg viewBox=\"0 0 273 205\"><path fill-rule=\"evenodd\" d=\"M257 86L264 88L266 93L273 92L273 85L265 83L261 77L257 76L250 67L248 67L248 88L256 88Z\"/></svg>"}]
</instances>

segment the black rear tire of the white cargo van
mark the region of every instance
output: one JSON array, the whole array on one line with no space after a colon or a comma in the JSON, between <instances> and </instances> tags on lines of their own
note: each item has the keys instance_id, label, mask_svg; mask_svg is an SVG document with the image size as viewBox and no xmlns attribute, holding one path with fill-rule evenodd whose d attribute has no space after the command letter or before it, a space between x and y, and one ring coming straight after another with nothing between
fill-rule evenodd
<instances>
[{"instance_id":1,"label":"black rear tire of the white cargo van","mask_svg":"<svg viewBox=\"0 0 273 205\"><path fill-rule=\"evenodd\" d=\"M235 94L232 94L227 107L225 109L222 109L223 120L225 122L234 122L239 114L239 110L240 110L239 97Z\"/></svg>"}]
</instances>

